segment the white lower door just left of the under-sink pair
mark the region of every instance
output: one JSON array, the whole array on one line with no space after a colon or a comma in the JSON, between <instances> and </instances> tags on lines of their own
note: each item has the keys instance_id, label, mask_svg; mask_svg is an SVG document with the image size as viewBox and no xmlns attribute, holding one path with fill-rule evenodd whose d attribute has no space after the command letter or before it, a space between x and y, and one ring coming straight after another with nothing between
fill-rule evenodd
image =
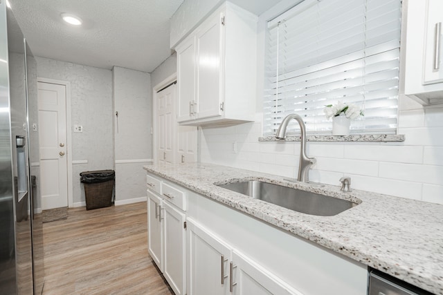
<instances>
[{"instance_id":1,"label":"white lower door just left of the under-sink pair","mask_svg":"<svg viewBox=\"0 0 443 295\"><path fill-rule=\"evenodd\" d=\"M176 295L186 292L186 235L184 213L163 201L163 276Z\"/></svg>"}]
</instances>

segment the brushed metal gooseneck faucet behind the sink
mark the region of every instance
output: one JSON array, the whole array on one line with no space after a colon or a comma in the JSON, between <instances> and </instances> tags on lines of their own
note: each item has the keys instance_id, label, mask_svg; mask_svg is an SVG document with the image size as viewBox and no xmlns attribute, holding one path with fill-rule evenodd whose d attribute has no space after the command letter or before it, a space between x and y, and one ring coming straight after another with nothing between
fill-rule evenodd
<instances>
[{"instance_id":1,"label":"brushed metal gooseneck faucet behind the sink","mask_svg":"<svg viewBox=\"0 0 443 295\"><path fill-rule=\"evenodd\" d=\"M278 128L275 138L279 140L284 140L286 138L286 129L289 121L295 119L300 125L301 139L300 139L300 164L298 164L298 178L300 182L309 182L309 168L312 164L316 163L315 158L309 158L306 155L306 126L303 122L302 117L297 114L291 114L284 117L280 127Z\"/></svg>"}]
</instances>

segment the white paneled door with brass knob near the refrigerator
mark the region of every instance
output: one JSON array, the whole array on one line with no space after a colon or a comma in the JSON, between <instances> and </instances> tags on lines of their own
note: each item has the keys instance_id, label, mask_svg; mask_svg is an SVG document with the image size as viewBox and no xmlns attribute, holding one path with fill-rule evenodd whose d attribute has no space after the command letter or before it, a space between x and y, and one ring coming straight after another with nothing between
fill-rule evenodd
<instances>
[{"instance_id":1,"label":"white paneled door with brass knob near the refrigerator","mask_svg":"<svg viewBox=\"0 0 443 295\"><path fill-rule=\"evenodd\" d=\"M66 86L38 82L42 209L68 206Z\"/></svg>"}]
</instances>

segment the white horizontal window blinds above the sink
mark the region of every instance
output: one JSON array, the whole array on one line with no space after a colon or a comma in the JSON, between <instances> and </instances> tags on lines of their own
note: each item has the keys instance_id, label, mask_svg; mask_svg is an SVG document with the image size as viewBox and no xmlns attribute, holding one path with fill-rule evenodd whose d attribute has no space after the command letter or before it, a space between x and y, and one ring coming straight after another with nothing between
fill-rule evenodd
<instances>
[{"instance_id":1,"label":"white horizontal window blinds above the sink","mask_svg":"<svg viewBox=\"0 0 443 295\"><path fill-rule=\"evenodd\" d=\"M265 135L290 113L330 134L323 109L338 100L363 110L352 133L396 133L401 0L305 0L268 27Z\"/></svg>"}]
</instances>

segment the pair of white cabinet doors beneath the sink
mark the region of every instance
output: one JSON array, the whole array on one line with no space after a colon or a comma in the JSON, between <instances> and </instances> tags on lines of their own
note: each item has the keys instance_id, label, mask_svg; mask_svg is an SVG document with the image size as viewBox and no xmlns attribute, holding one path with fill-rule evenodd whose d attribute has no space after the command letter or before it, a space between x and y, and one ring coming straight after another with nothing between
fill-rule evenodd
<instances>
[{"instance_id":1,"label":"pair of white cabinet doors beneath the sink","mask_svg":"<svg viewBox=\"0 0 443 295\"><path fill-rule=\"evenodd\" d=\"M301 295L202 225L187 224L188 295Z\"/></svg>"}]
</instances>

